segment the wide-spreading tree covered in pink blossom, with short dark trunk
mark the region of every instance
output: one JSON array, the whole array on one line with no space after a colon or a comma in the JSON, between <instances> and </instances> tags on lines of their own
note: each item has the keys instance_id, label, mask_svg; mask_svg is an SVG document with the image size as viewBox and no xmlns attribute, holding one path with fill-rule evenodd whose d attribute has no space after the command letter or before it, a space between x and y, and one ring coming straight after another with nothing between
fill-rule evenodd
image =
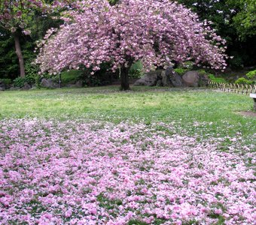
<instances>
[{"instance_id":1,"label":"wide-spreading tree covered in pink blossom, with short dark trunk","mask_svg":"<svg viewBox=\"0 0 256 225\"><path fill-rule=\"evenodd\" d=\"M41 42L37 62L41 72L59 73L81 65L97 71L110 62L120 68L121 89L130 89L128 71L141 60L148 70L194 59L215 69L226 66L224 40L195 13L168 0L82 1L70 10L59 30Z\"/></svg>"}]
</instances>

